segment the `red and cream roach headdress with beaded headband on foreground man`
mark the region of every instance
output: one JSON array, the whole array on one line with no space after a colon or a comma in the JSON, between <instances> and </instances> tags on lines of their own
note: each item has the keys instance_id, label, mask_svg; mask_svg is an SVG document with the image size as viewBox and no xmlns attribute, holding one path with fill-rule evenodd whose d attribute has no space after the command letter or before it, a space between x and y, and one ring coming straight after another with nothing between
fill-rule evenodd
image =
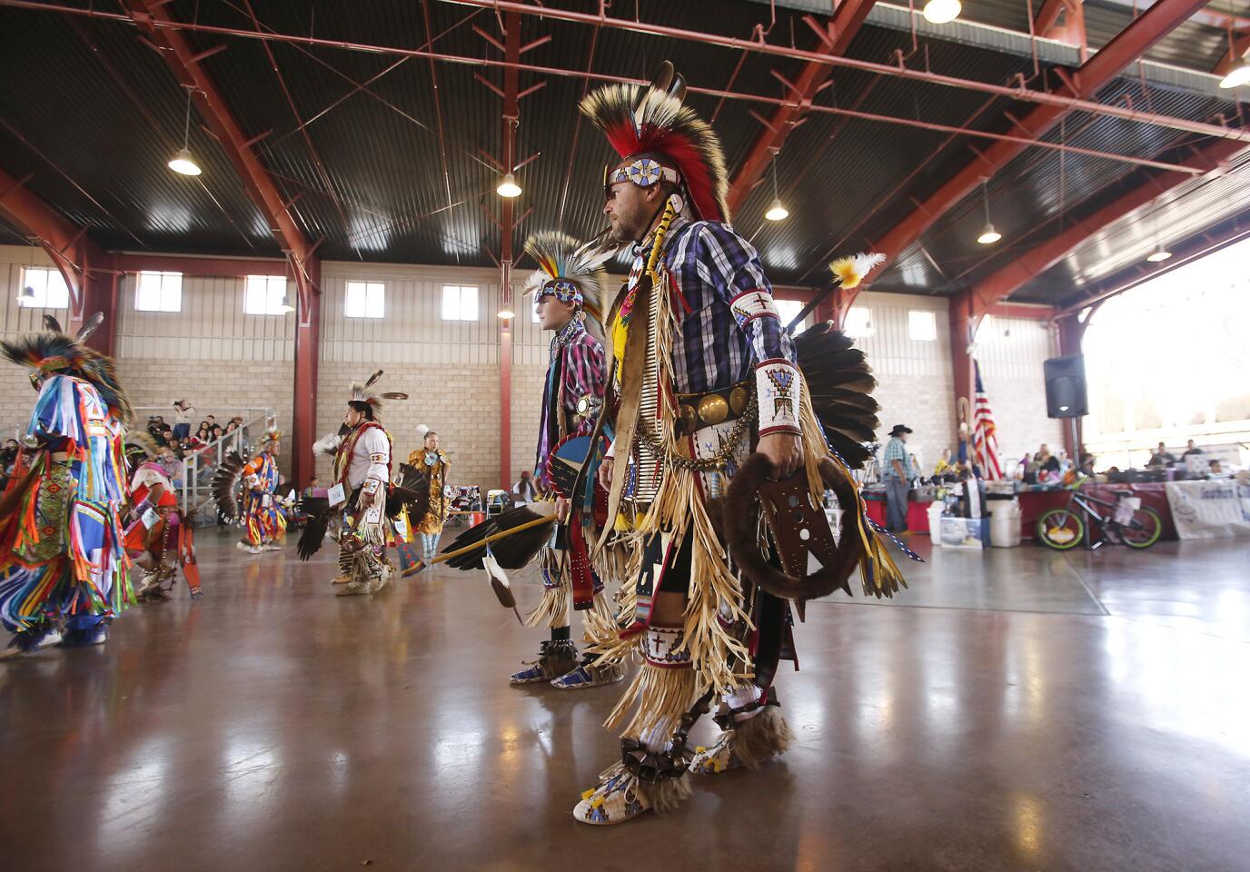
<instances>
[{"instance_id":1,"label":"red and cream roach headdress with beaded headband on foreground man","mask_svg":"<svg viewBox=\"0 0 1250 872\"><path fill-rule=\"evenodd\" d=\"M661 180L685 189L700 219L729 221L729 172L711 126L681 105L685 80L664 61L648 87L605 85L585 96L581 111L604 131L629 166L605 174L604 182L631 181L649 187ZM660 162L648 157L659 156Z\"/></svg>"}]
</instances>

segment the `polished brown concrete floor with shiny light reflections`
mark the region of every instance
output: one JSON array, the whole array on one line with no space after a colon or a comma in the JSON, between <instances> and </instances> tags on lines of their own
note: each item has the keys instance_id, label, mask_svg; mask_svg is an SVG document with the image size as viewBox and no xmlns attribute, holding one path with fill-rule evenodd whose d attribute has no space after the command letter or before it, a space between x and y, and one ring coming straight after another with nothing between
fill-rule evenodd
<instances>
[{"instance_id":1,"label":"polished brown concrete floor with shiny light reflections","mask_svg":"<svg viewBox=\"0 0 1250 872\"><path fill-rule=\"evenodd\" d=\"M329 550L200 546L200 602L0 667L0 868L1250 868L1245 542L922 542L898 601L809 606L782 762L611 828L570 811L620 686L509 687L538 636L481 576L336 600Z\"/></svg>"}]
</instances>

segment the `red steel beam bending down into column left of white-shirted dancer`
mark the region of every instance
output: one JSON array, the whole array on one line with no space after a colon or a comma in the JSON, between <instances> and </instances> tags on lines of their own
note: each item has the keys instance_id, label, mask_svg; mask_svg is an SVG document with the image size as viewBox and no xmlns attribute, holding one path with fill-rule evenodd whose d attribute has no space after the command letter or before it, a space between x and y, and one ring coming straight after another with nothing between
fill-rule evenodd
<instances>
[{"instance_id":1,"label":"red steel beam bending down into column left of white-shirted dancer","mask_svg":"<svg viewBox=\"0 0 1250 872\"><path fill-rule=\"evenodd\" d=\"M174 19L158 0L126 0L126 9L141 34L159 49L160 56L184 86L192 87L191 99L216 136L226 157L234 164L252 202L269 222L279 246L291 260L299 291L295 329L295 414L291 421L291 477L302 487L314 472L312 435L316 431L316 359L320 345L320 264L311 246L288 211L285 199L252 152L246 134L230 112L225 99L198 62L198 52L179 31Z\"/></svg>"}]
</instances>

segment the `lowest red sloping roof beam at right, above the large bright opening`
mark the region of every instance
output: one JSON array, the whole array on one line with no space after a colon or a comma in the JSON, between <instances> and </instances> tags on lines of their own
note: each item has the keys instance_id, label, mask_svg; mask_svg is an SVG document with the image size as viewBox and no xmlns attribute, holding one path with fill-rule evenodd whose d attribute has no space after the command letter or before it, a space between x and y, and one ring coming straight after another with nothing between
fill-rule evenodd
<instances>
[{"instance_id":1,"label":"lowest red sloping roof beam at right, above the large bright opening","mask_svg":"<svg viewBox=\"0 0 1250 872\"><path fill-rule=\"evenodd\" d=\"M1186 164L1195 169L1211 171L1231 160L1244 149L1245 146L1238 142L1216 140L1205 149L1199 150L1199 154L1190 157ZM1006 300L1016 290L1049 270L1064 255L1099 230L1119 221L1126 215L1131 215L1135 210L1148 205L1161 194L1166 194L1190 179L1192 176L1186 172L1155 172L1145 184L1121 195L1112 202L1071 225L1061 234L1052 236L1022 255L1012 257L1011 262L1006 266L960 292L960 295L968 295L971 301L971 316L979 321L995 304Z\"/></svg>"}]
</instances>

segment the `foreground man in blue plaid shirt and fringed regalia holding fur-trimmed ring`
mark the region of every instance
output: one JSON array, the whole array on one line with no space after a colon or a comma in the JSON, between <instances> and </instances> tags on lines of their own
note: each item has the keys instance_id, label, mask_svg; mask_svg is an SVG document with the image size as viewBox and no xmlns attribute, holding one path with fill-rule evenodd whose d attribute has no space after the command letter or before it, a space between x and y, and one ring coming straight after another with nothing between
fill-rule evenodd
<instances>
[{"instance_id":1,"label":"foreground man in blue plaid shirt and fringed regalia holding fur-trimmed ring","mask_svg":"<svg viewBox=\"0 0 1250 872\"><path fill-rule=\"evenodd\" d=\"M625 581L625 628L600 647L601 662L644 661L609 718L624 726L621 762L574 810L585 823L666 811L689 795L688 772L754 768L785 751L772 677L790 656L786 600L844 586L860 560L872 561L874 592L898 581L880 548L865 553L870 533L844 530L841 551L832 541L825 487L858 497L826 456L759 256L728 224L720 142L684 96L665 62L650 87L610 85L581 104L620 155L605 172L604 214L634 245L608 320L614 438L599 470L609 495L600 545L629 527L641 560ZM786 511L774 511L769 487L788 488ZM800 580L816 552L809 538L828 568ZM724 733L688 750L714 697Z\"/></svg>"}]
</instances>

